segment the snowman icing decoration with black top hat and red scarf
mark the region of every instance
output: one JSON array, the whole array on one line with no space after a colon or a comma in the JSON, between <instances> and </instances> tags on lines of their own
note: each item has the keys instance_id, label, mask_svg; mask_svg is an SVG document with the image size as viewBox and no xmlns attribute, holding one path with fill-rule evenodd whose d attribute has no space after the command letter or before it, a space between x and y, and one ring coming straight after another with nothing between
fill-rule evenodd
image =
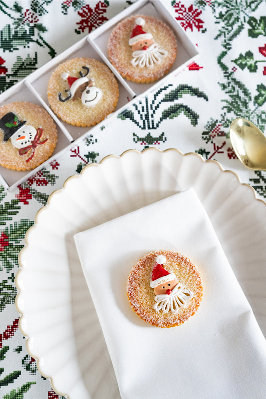
<instances>
[{"instance_id":1,"label":"snowman icing decoration with black top hat and red scarf","mask_svg":"<svg viewBox=\"0 0 266 399\"><path fill-rule=\"evenodd\" d=\"M37 130L30 125L26 125L27 121L19 121L17 115L8 112L0 119L0 128L3 130L3 141L10 139L11 144L18 149L19 155L25 155L31 151L30 157L26 160L29 162L35 154L38 145L46 143L48 139L40 141L43 130Z\"/></svg>"}]
</instances>

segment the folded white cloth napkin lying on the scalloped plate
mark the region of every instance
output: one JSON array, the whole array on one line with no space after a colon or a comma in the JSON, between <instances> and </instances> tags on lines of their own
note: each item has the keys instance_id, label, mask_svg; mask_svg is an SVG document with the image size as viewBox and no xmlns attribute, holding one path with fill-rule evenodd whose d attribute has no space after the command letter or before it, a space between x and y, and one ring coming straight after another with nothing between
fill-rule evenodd
<instances>
[{"instance_id":1,"label":"folded white cloth napkin lying on the scalloped plate","mask_svg":"<svg viewBox=\"0 0 266 399\"><path fill-rule=\"evenodd\" d=\"M265 399L266 342L193 189L75 235L123 399ZM141 320L126 295L131 267L157 249L198 267L203 299L174 328Z\"/></svg>"}]
</instances>

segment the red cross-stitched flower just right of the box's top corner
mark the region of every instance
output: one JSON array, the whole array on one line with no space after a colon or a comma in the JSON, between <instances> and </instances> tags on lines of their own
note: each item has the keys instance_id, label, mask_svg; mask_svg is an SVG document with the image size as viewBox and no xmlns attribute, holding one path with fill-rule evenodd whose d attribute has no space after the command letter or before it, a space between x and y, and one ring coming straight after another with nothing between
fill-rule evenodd
<instances>
[{"instance_id":1,"label":"red cross-stitched flower just right of the box's top corner","mask_svg":"<svg viewBox=\"0 0 266 399\"><path fill-rule=\"evenodd\" d=\"M173 7L175 8L175 12L178 14L176 20L180 21L180 25L185 30L189 28L193 31L193 26L198 29L198 31L203 28L204 21L199 18L202 11L197 8L193 9L193 4L186 8L184 4L181 4L181 2L178 1L173 5Z\"/></svg>"}]
</instances>

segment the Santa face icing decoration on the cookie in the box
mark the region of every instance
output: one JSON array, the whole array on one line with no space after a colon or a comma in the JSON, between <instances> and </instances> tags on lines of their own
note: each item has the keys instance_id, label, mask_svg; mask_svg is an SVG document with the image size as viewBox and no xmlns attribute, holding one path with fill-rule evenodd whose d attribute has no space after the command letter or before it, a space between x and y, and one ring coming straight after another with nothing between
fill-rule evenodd
<instances>
[{"instance_id":1,"label":"Santa face icing decoration on the cookie in the box","mask_svg":"<svg viewBox=\"0 0 266 399\"><path fill-rule=\"evenodd\" d=\"M153 67L158 64L167 55L167 51L161 48L153 40L152 34L143 30L145 20L143 18L136 19L136 25L133 27L129 45L132 46L132 60L134 66L144 68Z\"/></svg>"}]
</instances>

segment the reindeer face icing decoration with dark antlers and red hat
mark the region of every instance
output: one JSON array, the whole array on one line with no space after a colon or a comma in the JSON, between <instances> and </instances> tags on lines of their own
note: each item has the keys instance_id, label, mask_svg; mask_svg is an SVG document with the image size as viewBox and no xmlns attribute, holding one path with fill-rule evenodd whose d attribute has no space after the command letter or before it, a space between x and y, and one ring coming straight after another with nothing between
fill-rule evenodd
<instances>
[{"instance_id":1,"label":"reindeer face icing decoration with dark antlers and red hat","mask_svg":"<svg viewBox=\"0 0 266 399\"><path fill-rule=\"evenodd\" d=\"M83 73L80 71L80 78L75 76L69 76L68 73L64 72L61 77L64 80L67 80L69 90L65 90L67 96L65 98L62 97L62 93L58 93L58 99L61 102L65 102L70 98L72 101L75 101L79 98L83 105L86 107L91 107L98 103L98 101L102 97L102 91L98 87L95 86L95 82L93 79L88 78L89 68L87 66L82 66L82 68L86 71Z\"/></svg>"}]
</instances>

